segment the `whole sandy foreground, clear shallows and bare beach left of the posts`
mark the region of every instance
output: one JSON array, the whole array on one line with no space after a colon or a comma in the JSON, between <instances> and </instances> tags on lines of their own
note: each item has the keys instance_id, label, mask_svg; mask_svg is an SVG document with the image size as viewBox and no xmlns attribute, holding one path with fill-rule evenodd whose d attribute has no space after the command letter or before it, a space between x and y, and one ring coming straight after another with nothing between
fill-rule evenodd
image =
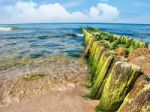
<instances>
[{"instance_id":1,"label":"whole sandy foreground, clear shallows and bare beach left of the posts","mask_svg":"<svg viewBox=\"0 0 150 112\"><path fill-rule=\"evenodd\" d=\"M94 112L83 57L55 56L0 71L0 112ZM33 76L33 77L31 77Z\"/></svg>"}]
</instances>

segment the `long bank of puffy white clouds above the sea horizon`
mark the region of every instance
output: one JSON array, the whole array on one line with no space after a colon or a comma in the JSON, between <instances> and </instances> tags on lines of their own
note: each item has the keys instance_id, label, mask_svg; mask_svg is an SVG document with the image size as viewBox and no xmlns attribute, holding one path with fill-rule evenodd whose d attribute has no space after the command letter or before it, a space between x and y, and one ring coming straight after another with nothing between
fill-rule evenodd
<instances>
[{"instance_id":1,"label":"long bank of puffy white clouds above the sea horizon","mask_svg":"<svg viewBox=\"0 0 150 112\"><path fill-rule=\"evenodd\" d=\"M17 2L0 9L0 23L112 22L119 16L118 9L106 3L99 3L88 11L89 14L81 11L69 12L60 3L38 5L34 2Z\"/></svg>"}]
</instances>

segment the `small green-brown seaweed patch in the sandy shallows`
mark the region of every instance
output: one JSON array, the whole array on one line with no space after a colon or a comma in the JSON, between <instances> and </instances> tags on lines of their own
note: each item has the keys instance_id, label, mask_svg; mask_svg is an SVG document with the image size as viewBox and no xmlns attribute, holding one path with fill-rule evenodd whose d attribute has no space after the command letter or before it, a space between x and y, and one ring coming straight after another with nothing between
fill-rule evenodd
<instances>
[{"instance_id":1,"label":"small green-brown seaweed patch in the sandy shallows","mask_svg":"<svg viewBox=\"0 0 150 112\"><path fill-rule=\"evenodd\" d=\"M40 74L40 73L33 73L31 75L25 76L23 80L25 81L33 81L33 80L38 80L40 78L43 78L45 74Z\"/></svg>"}]
</instances>

